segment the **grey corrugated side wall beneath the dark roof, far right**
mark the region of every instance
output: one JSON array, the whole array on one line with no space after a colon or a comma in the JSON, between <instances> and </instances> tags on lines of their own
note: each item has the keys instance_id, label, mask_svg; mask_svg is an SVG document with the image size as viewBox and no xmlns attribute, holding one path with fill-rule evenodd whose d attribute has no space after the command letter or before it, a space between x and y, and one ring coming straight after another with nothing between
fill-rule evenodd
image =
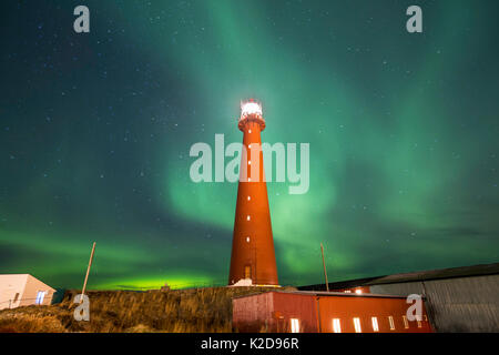
<instances>
[{"instance_id":1,"label":"grey corrugated side wall beneath the dark roof, far right","mask_svg":"<svg viewBox=\"0 0 499 355\"><path fill-rule=\"evenodd\" d=\"M426 295L437 332L499 332L499 275L371 285L370 292Z\"/></svg>"}]
</instances>

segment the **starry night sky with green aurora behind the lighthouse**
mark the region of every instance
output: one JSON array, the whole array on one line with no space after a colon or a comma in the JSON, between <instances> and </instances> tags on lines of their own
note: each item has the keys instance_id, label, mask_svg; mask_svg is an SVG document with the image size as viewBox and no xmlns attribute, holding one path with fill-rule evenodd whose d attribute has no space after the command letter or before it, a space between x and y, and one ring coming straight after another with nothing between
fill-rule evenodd
<instances>
[{"instance_id":1,"label":"starry night sky with green aurora behind the lighthouse","mask_svg":"<svg viewBox=\"0 0 499 355\"><path fill-rule=\"evenodd\" d=\"M73 9L90 9L90 33ZM406 31L422 8L424 32ZM90 288L227 282L237 184L192 144L310 144L269 183L282 284L498 262L499 2L0 2L0 273Z\"/></svg>"}]
</instances>

